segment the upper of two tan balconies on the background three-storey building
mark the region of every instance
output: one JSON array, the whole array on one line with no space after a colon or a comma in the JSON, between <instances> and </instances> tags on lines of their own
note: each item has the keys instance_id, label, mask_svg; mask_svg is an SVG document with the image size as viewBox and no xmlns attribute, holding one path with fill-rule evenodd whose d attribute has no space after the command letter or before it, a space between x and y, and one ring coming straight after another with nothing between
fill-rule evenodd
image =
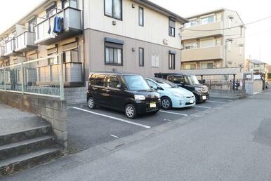
<instances>
[{"instance_id":1,"label":"upper of two tan balconies on the background three-storey building","mask_svg":"<svg viewBox=\"0 0 271 181\"><path fill-rule=\"evenodd\" d=\"M191 29L191 30L186 30ZM206 25L197 25L195 27L187 27L183 30L182 40L187 39L197 39L206 36L221 36L223 35L223 30L215 31L201 31L208 29L223 29L223 22L211 22Z\"/></svg>"}]
</instances>

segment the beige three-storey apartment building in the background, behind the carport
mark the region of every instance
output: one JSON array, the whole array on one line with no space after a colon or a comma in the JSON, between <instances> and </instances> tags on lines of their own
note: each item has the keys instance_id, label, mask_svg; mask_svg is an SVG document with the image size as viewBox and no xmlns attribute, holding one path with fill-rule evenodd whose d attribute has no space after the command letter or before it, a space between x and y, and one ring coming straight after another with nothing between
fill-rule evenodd
<instances>
[{"instance_id":1,"label":"beige three-storey apartment building in the background, behind the carport","mask_svg":"<svg viewBox=\"0 0 271 181\"><path fill-rule=\"evenodd\" d=\"M245 26L236 11L223 8L187 19L182 69L244 67Z\"/></svg>"}]
</instances>

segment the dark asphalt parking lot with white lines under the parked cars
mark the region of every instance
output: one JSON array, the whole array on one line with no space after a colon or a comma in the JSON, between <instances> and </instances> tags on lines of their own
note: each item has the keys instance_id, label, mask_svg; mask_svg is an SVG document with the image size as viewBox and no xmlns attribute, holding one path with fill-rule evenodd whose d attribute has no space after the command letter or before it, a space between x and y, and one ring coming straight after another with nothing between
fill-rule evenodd
<instances>
[{"instance_id":1,"label":"dark asphalt parking lot with white lines under the parked cars","mask_svg":"<svg viewBox=\"0 0 271 181\"><path fill-rule=\"evenodd\" d=\"M73 105L68 109L69 150L70 153L79 152L231 101L211 98L194 107L161 109L157 114L145 114L136 119L128 119L123 112L103 107L91 110L86 105Z\"/></svg>"}]
</instances>

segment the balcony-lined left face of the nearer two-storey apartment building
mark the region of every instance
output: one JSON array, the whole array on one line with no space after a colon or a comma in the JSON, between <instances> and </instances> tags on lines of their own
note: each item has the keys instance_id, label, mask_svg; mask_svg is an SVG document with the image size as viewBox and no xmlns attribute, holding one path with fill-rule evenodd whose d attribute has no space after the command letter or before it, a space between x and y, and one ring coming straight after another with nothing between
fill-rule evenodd
<instances>
[{"instance_id":1,"label":"balcony-lined left face of the nearer two-storey apartment building","mask_svg":"<svg viewBox=\"0 0 271 181\"><path fill-rule=\"evenodd\" d=\"M82 2L44 1L7 29L0 35L0 67L62 53L65 86L84 86ZM54 29L54 23L62 26ZM33 65L36 71L27 74L32 74L37 86L53 86L58 81L58 64L58 58L48 58ZM20 81L21 75L15 76Z\"/></svg>"}]
</instances>

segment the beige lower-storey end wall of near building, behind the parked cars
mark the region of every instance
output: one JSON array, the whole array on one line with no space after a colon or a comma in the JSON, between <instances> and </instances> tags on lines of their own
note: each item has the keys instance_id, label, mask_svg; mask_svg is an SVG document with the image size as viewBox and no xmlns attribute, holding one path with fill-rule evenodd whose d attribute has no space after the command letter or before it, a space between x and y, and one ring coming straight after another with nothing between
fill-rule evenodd
<instances>
[{"instance_id":1,"label":"beige lower-storey end wall of near building, behind the parked cars","mask_svg":"<svg viewBox=\"0 0 271 181\"><path fill-rule=\"evenodd\" d=\"M124 41L123 45L123 65L105 65L105 37L120 39ZM88 72L93 71L119 71L141 74L147 77L153 77L157 72L179 72L180 71L180 50L169 48L147 41L131 39L116 34L108 34L96 30L86 29L85 58L86 58L86 78ZM144 67L139 66L138 48L144 48ZM132 51L132 48L135 51ZM176 51L176 69L168 69L168 51ZM152 55L159 57L159 67L152 67Z\"/></svg>"}]
</instances>

